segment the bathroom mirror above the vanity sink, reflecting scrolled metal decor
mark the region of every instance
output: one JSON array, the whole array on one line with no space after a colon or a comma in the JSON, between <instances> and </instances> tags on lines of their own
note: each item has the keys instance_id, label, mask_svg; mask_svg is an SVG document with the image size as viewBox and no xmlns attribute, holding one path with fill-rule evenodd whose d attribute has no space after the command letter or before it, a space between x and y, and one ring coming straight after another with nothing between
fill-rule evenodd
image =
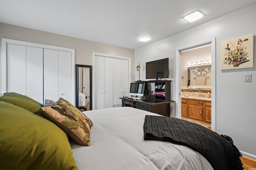
<instances>
[{"instance_id":1,"label":"bathroom mirror above the vanity sink, reflecting scrolled metal decor","mask_svg":"<svg viewBox=\"0 0 256 170\"><path fill-rule=\"evenodd\" d=\"M211 88L211 64L188 67L188 88Z\"/></svg>"}]
</instances>

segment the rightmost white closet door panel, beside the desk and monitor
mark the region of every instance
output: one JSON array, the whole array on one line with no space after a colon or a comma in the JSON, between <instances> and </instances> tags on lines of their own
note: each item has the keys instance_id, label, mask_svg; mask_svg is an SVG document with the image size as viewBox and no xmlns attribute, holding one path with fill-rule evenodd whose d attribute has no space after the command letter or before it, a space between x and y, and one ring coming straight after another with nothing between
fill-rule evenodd
<instances>
[{"instance_id":1,"label":"rightmost white closet door panel, beside the desk and monitor","mask_svg":"<svg viewBox=\"0 0 256 170\"><path fill-rule=\"evenodd\" d=\"M129 61L121 60L121 86L122 86L122 94L123 96L129 96ZM120 100L120 99L119 99ZM120 103L120 101L119 101Z\"/></svg>"}]
</instances>

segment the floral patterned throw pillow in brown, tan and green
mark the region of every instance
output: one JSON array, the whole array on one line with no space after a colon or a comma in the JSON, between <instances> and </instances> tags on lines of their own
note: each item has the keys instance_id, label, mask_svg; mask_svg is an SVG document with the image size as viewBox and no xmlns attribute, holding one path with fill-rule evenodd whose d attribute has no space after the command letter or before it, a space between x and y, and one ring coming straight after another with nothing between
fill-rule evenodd
<instances>
[{"instance_id":1,"label":"floral patterned throw pillow in brown, tan and green","mask_svg":"<svg viewBox=\"0 0 256 170\"><path fill-rule=\"evenodd\" d=\"M42 107L43 114L74 141L90 146L92 121L70 102L60 98L53 106Z\"/></svg>"}]
</instances>

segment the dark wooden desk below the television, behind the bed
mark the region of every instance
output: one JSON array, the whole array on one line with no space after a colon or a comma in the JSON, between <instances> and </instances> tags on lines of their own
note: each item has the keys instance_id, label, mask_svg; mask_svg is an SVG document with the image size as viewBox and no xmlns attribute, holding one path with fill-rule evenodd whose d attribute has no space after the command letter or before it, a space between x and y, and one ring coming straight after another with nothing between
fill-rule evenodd
<instances>
[{"instance_id":1,"label":"dark wooden desk below the television, behind the bed","mask_svg":"<svg viewBox=\"0 0 256 170\"><path fill-rule=\"evenodd\" d=\"M123 107L124 99L123 98L120 98L120 99L122 99L122 107ZM161 100L146 98L144 100L133 99L133 102L134 102L134 107L137 109L146 110L152 113L157 113L159 115L170 117L170 103L174 101L172 100L161 101Z\"/></svg>"}]
</instances>

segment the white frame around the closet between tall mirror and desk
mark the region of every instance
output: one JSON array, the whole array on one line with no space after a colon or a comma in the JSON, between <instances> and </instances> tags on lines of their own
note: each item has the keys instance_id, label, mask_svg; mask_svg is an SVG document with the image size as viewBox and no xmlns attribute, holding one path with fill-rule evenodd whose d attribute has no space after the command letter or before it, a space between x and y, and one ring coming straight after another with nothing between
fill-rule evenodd
<instances>
[{"instance_id":1,"label":"white frame around the closet between tall mirror and desk","mask_svg":"<svg viewBox=\"0 0 256 170\"><path fill-rule=\"evenodd\" d=\"M96 76L94 75L95 74L95 57L96 56L100 56L100 57L109 57L109 58L114 58L114 59L122 59L122 60L128 60L129 62L129 66L128 66L128 69L129 69L129 80L128 80L128 83L130 84L131 82L131 58L129 57L122 57L122 56L117 56L117 55L108 55L108 54L102 54L102 53L95 53L93 52L92 53L92 77L94 77L92 79L92 109L94 110L95 109L95 106L94 104L96 103L95 100L96 100L96 97L95 97L95 79L96 79ZM129 87L129 90L130 90L130 87ZM121 97L121 96L120 96ZM121 101L120 101L121 102Z\"/></svg>"}]
</instances>

